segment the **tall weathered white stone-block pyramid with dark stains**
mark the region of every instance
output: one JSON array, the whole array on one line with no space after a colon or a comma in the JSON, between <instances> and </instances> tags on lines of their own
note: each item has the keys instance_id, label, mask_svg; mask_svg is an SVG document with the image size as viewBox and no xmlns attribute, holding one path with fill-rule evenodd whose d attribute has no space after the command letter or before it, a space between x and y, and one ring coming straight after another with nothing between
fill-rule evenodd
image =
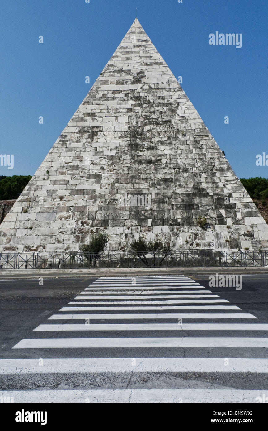
<instances>
[{"instance_id":1,"label":"tall weathered white stone-block pyramid with dark stains","mask_svg":"<svg viewBox=\"0 0 268 431\"><path fill-rule=\"evenodd\" d=\"M204 220L202 226L200 220ZM0 251L268 246L268 225L135 19L0 225Z\"/></svg>"}]
</instances>

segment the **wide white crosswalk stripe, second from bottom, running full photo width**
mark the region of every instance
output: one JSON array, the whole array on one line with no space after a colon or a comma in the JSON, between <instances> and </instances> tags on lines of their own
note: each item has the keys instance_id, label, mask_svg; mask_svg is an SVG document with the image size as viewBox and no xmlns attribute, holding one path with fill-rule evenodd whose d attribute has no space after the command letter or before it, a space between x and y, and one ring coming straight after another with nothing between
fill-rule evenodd
<instances>
[{"instance_id":1,"label":"wide white crosswalk stripe, second from bottom, running full photo width","mask_svg":"<svg viewBox=\"0 0 268 431\"><path fill-rule=\"evenodd\" d=\"M67 358L0 359L1 375L101 372L255 372L268 373L268 359L228 358Z\"/></svg>"}]
</instances>

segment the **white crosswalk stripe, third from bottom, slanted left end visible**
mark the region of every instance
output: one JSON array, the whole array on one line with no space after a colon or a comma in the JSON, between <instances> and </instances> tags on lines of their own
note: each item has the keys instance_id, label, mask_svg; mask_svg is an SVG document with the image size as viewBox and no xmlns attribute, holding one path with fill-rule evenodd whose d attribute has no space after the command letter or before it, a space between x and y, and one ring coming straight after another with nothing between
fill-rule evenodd
<instances>
[{"instance_id":1,"label":"white crosswalk stripe, third from bottom, slanted left end visible","mask_svg":"<svg viewBox=\"0 0 268 431\"><path fill-rule=\"evenodd\" d=\"M12 349L128 347L268 347L268 338L159 337L159 338L24 338Z\"/></svg>"}]
</instances>

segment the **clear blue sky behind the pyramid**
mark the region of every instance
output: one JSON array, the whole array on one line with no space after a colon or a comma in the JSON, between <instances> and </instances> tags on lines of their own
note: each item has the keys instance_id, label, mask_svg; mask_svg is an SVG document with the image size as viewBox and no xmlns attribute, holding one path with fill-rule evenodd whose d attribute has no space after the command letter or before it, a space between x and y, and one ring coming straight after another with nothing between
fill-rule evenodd
<instances>
[{"instance_id":1,"label":"clear blue sky behind the pyramid","mask_svg":"<svg viewBox=\"0 0 268 431\"><path fill-rule=\"evenodd\" d=\"M257 154L268 154L267 0L2 3L0 153L14 154L14 168L0 166L0 175L34 174L125 36L136 7L234 172L268 177L268 166L255 163ZM242 48L209 45L216 31L242 33Z\"/></svg>"}]
</instances>

